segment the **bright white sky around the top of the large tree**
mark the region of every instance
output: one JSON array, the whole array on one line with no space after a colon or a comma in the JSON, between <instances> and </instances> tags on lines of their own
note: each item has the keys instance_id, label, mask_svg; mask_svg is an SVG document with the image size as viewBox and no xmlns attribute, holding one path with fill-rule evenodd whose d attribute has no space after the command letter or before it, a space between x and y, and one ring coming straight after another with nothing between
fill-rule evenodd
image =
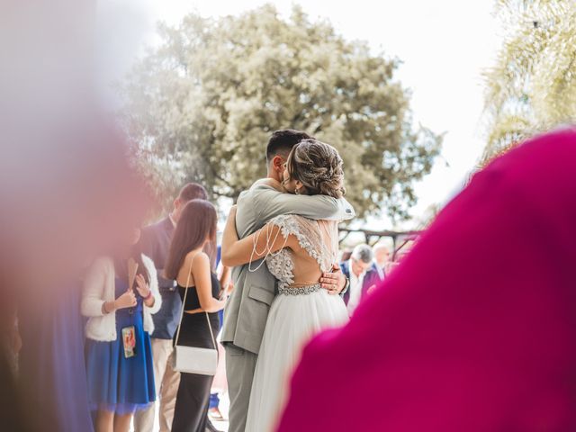
<instances>
[{"instance_id":1,"label":"bright white sky around the top of the large tree","mask_svg":"<svg viewBox=\"0 0 576 432\"><path fill-rule=\"evenodd\" d=\"M302 4L312 18L328 18L348 39L368 40L375 50L401 58L397 77L412 91L416 122L446 132L442 156L417 185L415 220L434 203L446 202L460 190L482 154L482 70L490 67L500 46L500 25L492 16L493 0L100 0L100 42L109 70L125 73L146 45L153 44L155 23L178 23L184 14L238 14L258 5L275 4L290 14ZM112 66L110 66L112 65ZM402 224L410 228L414 222ZM390 228L383 218L370 228Z\"/></svg>"}]
</instances>

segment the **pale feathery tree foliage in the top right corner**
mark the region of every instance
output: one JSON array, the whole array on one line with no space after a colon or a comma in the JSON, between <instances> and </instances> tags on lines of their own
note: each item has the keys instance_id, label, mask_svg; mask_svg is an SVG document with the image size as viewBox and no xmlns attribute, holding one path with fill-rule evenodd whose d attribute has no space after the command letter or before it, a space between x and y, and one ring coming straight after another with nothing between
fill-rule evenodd
<instances>
[{"instance_id":1,"label":"pale feathery tree foliage in the top right corner","mask_svg":"<svg viewBox=\"0 0 576 432\"><path fill-rule=\"evenodd\" d=\"M504 41L485 76L486 160L576 119L576 3L500 0L495 12Z\"/></svg>"}]
</instances>

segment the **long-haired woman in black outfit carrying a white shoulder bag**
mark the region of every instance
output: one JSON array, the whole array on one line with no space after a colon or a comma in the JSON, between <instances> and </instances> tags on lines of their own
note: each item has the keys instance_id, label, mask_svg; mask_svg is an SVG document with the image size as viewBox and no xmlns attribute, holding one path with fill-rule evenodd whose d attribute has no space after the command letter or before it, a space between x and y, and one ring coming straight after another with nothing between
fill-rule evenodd
<instances>
[{"instance_id":1,"label":"long-haired woman in black outfit carrying a white shoulder bag","mask_svg":"<svg viewBox=\"0 0 576 432\"><path fill-rule=\"evenodd\" d=\"M188 202L176 225L166 262L166 277L175 279L184 300L184 317L178 345L214 348L204 312L208 312L211 330L218 333L218 311L225 299L218 299L220 284L211 272L211 259L204 252L216 237L216 209L207 201ZM181 374L176 396L173 432L204 432L207 423L213 376Z\"/></svg>"}]
</instances>

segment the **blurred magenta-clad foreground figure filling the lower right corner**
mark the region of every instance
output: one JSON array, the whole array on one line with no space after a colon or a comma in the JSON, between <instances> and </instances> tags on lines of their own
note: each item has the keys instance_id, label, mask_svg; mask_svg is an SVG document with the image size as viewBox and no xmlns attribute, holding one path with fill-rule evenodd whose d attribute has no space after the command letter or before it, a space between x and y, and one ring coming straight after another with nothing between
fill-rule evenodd
<instances>
[{"instance_id":1,"label":"blurred magenta-clad foreground figure filling the lower right corner","mask_svg":"<svg viewBox=\"0 0 576 432\"><path fill-rule=\"evenodd\" d=\"M278 430L576 430L574 166L572 128L474 175L347 327L306 347Z\"/></svg>"}]
</instances>

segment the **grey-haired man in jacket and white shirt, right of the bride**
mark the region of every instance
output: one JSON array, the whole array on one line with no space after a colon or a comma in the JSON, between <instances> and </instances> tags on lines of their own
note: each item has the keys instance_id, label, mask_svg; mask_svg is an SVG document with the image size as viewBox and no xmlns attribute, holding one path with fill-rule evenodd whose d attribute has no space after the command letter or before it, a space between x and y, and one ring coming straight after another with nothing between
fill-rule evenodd
<instances>
[{"instance_id":1,"label":"grey-haired man in jacket and white shirt, right of the bride","mask_svg":"<svg viewBox=\"0 0 576 432\"><path fill-rule=\"evenodd\" d=\"M348 315L352 316L356 307L367 293L365 275L373 264L374 252L366 244L357 245L352 249L350 259L340 263L342 273L350 280L350 288L344 293L344 302Z\"/></svg>"}]
</instances>

